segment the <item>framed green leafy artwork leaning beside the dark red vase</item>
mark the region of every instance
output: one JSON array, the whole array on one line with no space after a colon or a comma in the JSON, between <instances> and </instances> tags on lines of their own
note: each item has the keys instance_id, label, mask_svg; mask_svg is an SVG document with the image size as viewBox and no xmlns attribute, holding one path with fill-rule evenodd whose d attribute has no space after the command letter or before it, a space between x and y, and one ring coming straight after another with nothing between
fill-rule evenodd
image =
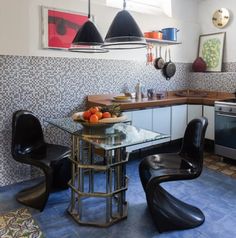
<instances>
[{"instance_id":1,"label":"framed green leafy artwork leaning beside the dark red vase","mask_svg":"<svg viewBox=\"0 0 236 238\"><path fill-rule=\"evenodd\" d=\"M200 35L198 57L207 64L206 71L221 72L224 54L225 32Z\"/></svg>"}]
</instances>

